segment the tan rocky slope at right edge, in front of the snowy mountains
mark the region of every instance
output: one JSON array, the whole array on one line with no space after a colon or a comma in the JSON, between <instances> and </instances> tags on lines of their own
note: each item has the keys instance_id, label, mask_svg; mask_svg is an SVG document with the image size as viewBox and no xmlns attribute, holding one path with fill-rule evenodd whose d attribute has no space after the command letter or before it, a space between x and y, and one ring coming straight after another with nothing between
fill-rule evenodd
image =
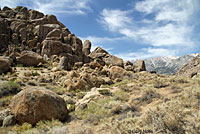
<instances>
[{"instance_id":1,"label":"tan rocky slope at right edge, in front of the snowy mountains","mask_svg":"<svg viewBox=\"0 0 200 134\"><path fill-rule=\"evenodd\" d=\"M188 64L184 65L176 73L177 75L183 75L187 77L193 77L200 73L200 54L193 58Z\"/></svg>"}]
</instances>

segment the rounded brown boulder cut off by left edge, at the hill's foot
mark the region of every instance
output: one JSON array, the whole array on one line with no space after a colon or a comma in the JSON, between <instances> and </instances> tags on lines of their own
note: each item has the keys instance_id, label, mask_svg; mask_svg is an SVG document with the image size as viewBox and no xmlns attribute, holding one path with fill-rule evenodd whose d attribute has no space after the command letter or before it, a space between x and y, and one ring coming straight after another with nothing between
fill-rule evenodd
<instances>
[{"instance_id":1,"label":"rounded brown boulder cut off by left edge, at the hill's foot","mask_svg":"<svg viewBox=\"0 0 200 134\"><path fill-rule=\"evenodd\" d=\"M8 72L11 68L11 64L10 58L0 56L0 74Z\"/></svg>"}]
</instances>

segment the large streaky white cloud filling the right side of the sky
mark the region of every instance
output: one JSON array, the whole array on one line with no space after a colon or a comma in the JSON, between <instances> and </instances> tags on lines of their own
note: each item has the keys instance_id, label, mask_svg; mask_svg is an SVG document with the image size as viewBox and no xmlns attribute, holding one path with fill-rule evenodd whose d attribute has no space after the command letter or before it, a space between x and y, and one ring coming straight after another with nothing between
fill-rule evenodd
<instances>
[{"instance_id":1,"label":"large streaky white cloud filling the right side of the sky","mask_svg":"<svg viewBox=\"0 0 200 134\"><path fill-rule=\"evenodd\" d=\"M192 34L194 25L200 25L197 16L194 17L199 11L199 0L143 0L136 2L132 10L104 9L98 21L106 30L149 47L142 49L139 56L137 52L120 54L125 59L180 55L198 45ZM133 17L138 12L140 19Z\"/></svg>"}]
</instances>

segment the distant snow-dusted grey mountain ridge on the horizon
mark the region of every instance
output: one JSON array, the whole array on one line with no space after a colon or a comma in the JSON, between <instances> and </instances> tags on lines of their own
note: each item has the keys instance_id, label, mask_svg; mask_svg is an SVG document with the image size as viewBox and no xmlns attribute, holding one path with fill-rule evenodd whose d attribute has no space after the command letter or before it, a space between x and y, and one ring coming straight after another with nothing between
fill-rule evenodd
<instances>
[{"instance_id":1,"label":"distant snow-dusted grey mountain ridge on the horizon","mask_svg":"<svg viewBox=\"0 0 200 134\"><path fill-rule=\"evenodd\" d=\"M197 54L184 56L165 56L145 59L147 71L154 70L159 74L175 74L181 67L196 57ZM132 62L134 62L133 60Z\"/></svg>"}]
</instances>

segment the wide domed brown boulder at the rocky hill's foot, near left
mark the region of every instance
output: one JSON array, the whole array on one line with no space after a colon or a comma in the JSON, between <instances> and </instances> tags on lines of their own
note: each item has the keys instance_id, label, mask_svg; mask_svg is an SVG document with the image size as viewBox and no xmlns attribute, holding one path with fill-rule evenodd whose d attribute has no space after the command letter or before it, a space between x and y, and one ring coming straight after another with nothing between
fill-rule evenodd
<instances>
[{"instance_id":1,"label":"wide domed brown boulder at the rocky hill's foot, near left","mask_svg":"<svg viewBox=\"0 0 200 134\"><path fill-rule=\"evenodd\" d=\"M39 63L44 62L42 56L32 51L26 51L17 58L17 63L23 64L24 66L37 66Z\"/></svg>"}]
</instances>

